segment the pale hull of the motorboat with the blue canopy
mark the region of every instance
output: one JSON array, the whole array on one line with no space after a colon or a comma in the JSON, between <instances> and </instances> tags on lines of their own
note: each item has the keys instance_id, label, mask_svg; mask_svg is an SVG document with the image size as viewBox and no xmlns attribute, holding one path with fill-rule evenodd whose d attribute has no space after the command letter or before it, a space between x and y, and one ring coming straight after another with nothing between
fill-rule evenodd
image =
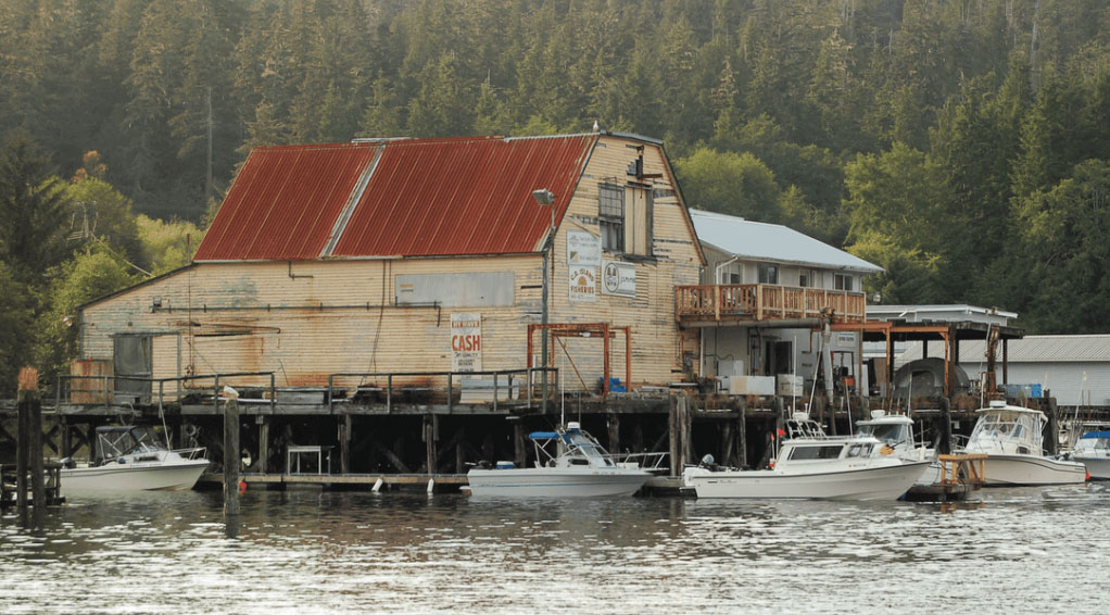
<instances>
[{"instance_id":1,"label":"pale hull of the motorboat with the blue canopy","mask_svg":"<svg viewBox=\"0 0 1110 615\"><path fill-rule=\"evenodd\" d=\"M480 497L620 497L639 491L649 476L642 470L593 467L472 470L466 474L471 495Z\"/></svg>"}]
</instances>

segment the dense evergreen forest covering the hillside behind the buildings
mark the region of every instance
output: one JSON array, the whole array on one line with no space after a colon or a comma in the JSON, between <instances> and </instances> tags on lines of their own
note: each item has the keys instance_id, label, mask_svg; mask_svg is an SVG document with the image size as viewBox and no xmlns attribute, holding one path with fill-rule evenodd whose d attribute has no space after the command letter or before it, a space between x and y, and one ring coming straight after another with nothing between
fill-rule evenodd
<instances>
[{"instance_id":1,"label":"dense evergreen forest covering the hillside behind the buildings","mask_svg":"<svg viewBox=\"0 0 1110 615\"><path fill-rule=\"evenodd\" d=\"M87 181L185 251L253 145L596 120L664 139L690 206L882 265L885 303L1107 332L1108 60L1104 0L0 0L0 285L34 289L0 330L152 273L137 231L64 241ZM59 305L74 253L121 276Z\"/></svg>"}]
</instances>

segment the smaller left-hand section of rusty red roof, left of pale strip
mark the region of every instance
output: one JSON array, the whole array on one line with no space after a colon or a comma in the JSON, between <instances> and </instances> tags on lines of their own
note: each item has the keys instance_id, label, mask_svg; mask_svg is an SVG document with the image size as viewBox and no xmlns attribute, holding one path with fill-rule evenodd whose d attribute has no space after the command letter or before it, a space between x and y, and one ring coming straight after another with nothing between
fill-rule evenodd
<instances>
[{"instance_id":1,"label":"smaller left-hand section of rusty red roof, left of pale strip","mask_svg":"<svg viewBox=\"0 0 1110 615\"><path fill-rule=\"evenodd\" d=\"M319 258L380 149L372 143L255 148L193 260Z\"/></svg>"}]
</instances>

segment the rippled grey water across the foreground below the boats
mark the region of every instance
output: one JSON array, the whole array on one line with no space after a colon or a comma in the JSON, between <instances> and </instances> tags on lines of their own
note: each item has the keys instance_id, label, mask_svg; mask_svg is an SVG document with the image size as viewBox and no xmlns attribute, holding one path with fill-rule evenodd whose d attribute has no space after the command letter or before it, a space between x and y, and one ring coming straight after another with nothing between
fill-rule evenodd
<instances>
[{"instance_id":1,"label":"rippled grey water across the foreground below the boats","mask_svg":"<svg viewBox=\"0 0 1110 615\"><path fill-rule=\"evenodd\" d=\"M1110 488L981 504L249 492L0 520L0 613L1107 613ZM229 537L229 534L235 534Z\"/></svg>"}]
</instances>

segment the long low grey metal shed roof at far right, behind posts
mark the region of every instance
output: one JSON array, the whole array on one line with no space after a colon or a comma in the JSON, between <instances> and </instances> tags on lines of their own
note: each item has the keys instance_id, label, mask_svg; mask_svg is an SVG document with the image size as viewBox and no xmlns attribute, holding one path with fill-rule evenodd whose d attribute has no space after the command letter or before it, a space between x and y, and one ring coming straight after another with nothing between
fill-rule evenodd
<instances>
[{"instance_id":1,"label":"long low grey metal shed roof at far right, behind posts","mask_svg":"<svg viewBox=\"0 0 1110 615\"><path fill-rule=\"evenodd\" d=\"M986 346L982 340L965 340L960 342L960 363L983 361ZM929 344L929 356L941 356L944 344ZM1079 363L1110 362L1110 334L1097 335L1027 335L1020 340L1009 340L1006 347L1007 360L1010 363ZM921 357L921 344L917 343L906 350L899 362L914 361ZM1001 360L999 347L997 359Z\"/></svg>"}]
</instances>

